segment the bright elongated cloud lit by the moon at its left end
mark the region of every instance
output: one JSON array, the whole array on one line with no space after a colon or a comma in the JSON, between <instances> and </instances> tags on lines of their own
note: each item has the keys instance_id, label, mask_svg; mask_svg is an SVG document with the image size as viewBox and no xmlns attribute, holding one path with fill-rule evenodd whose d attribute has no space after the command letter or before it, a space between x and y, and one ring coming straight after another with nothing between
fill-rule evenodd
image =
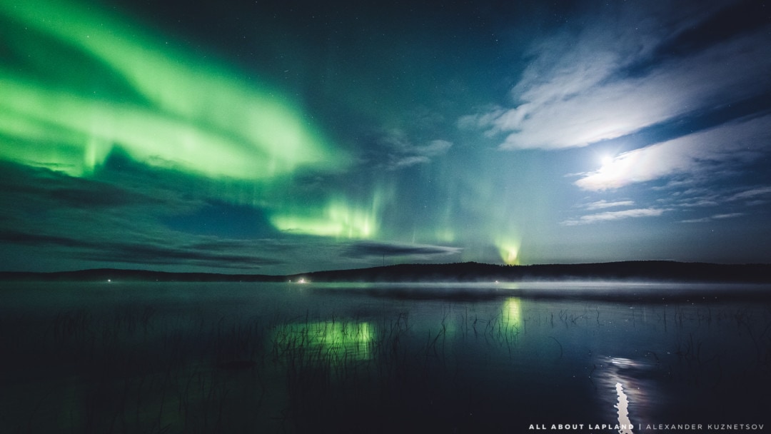
<instances>
[{"instance_id":1,"label":"bright elongated cloud lit by the moon at its left end","mask_svg":"<svg viewBox=\"0 0 771 434\"><path fill-rule=\"evenodd\" d=\"M717 169L741 165L766 152L771 116L729 123L616 156L575 181L584 190L612 190L632 183L689 175L712 177Z\"/></svg>"}]
</instances>

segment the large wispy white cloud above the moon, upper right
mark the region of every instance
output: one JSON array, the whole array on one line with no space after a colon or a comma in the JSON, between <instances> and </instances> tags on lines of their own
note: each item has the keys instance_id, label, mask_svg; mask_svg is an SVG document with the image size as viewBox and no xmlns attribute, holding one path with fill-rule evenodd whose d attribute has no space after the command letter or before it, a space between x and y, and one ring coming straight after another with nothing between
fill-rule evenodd
<instances>
[{"instance_id":1,"label":"large wispy white cloud above the moon, upper right","mask_svg":"<svg viewBox=\"0 0 771 434\"><path fill-rule=\"evenodd\" d=\"M535 45L512 89L513 106L464 116L460 124L506 134L501 149L560 149L626 136L771 89L771 45L759 43L767 27L678 52L672 48L678 35L715 15L683 7L699 17L693 22L682 11L628 9L634 12L600 15L579 32Z\"/></svg>"}]
</instances>

